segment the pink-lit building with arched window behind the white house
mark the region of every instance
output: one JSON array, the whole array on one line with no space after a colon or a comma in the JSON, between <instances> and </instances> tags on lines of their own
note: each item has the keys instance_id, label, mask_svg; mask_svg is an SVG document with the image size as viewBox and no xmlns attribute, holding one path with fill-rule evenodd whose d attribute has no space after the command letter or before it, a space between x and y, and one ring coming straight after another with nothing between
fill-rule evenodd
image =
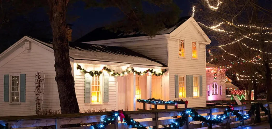
<instances>
[{"instance_id":1,"label":"pink-lit building with arched window behind the white house","mask_svg":"<svg viewBox=\"0 0 272 129\"><path fill-rule=\"evenodd\" d=\"M225 69L206 63L207 100L226 100Z\"/></svg>"}]
</instances>

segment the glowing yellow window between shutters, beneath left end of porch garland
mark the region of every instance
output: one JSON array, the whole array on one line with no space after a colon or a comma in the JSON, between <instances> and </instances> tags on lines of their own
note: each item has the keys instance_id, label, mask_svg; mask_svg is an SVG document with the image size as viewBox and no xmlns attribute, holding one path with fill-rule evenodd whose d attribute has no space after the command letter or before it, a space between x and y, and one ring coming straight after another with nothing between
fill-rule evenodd
<instances>
[{"instance_id":1,"label":"glowing yellow window between shutters, beneath left end of porch garland","mask_svg":"<svg viewBox=\"0 0 272 129\"><path fill-rule=\"evenodd\" d=\"M91 98L93 104L101 104L102 103L102 95L101 95L101 85L100 85L100 76L92 77L92 91Z\"/></svg>"}]
</instances>

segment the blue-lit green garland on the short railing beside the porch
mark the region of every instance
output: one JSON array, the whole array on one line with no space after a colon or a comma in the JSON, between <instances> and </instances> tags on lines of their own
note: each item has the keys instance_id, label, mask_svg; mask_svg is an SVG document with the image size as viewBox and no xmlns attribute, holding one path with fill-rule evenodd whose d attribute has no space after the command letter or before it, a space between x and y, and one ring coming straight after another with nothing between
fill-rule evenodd
<instances>
[{"instance_id":1,"label":"blue-lit green garland on the short railing beside the porch","mask_svg":"<svg viewBox=\"0 0 272 129\"><path fill-rule=\"evenodd\" d=\"M163 101L160 99L137 99L137 102L152 103L152 104L185 104L183 100Z\"/></svg>"}]
</instances>

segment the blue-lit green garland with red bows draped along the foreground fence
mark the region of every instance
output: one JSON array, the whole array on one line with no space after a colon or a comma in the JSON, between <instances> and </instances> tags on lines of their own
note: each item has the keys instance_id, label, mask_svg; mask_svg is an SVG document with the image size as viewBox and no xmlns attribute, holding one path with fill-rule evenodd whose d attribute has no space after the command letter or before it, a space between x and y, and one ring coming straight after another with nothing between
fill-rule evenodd
<instances>
[{"instance_id":1,"label":"blue-lit green garland with red bows draped along the foreground fence","mask_svg":"<svg viewBox=\"0 0 272 129\"><path fill-rule=\"evenodd\" d=\"M252 105L254 106L254 105ZM253 109L253 108L252 108ZM250 111L251 112L251 111ZM202 121L209 124L218 124L223 122L223 120L230 118L229 113L232 113L232 115L236 116L238 120L247 120L249 119L249 114L242 115L239 113L239 111L233 110L232 106L227 107L226 111L224 111L224 114L221 114L215 118L205 118L197 113L196 110L192 108L187 108L180 114L180 118L175 119L174 122L172 122L169 127L164 127L164 129L176 129L179 127L183 127L185 122L187 121L188 116L190 115L194 121ZM135 121L131 116L123 112L122 110L119 111L113 111L113 114L109 117L104 117L102 122L99 124L92 125L94 129L102 129L106 128L106 126L112 122L114 122L117 117L120 117L121 122L124 121L129 126L129 128L137 128L137 129L145 129L146 127L140 124L140 122Z\"/></svg>"}]
</instances>

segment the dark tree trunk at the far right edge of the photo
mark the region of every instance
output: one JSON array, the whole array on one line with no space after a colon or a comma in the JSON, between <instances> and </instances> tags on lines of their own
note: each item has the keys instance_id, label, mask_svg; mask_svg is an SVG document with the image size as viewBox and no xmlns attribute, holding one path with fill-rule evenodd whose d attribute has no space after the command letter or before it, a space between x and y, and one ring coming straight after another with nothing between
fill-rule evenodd
<instances>
[{"instance_id":1,"label":"dark tree trunk at the far right edge of the photo","mask_svg":"<svg viewBox=\"0 0 272 129\"><path fill-rule=\"evenodd\" d=\"M272 102L272 85L271 85L271 70L269 67L269 63L265 63L265 69L266 69L266 73L265 73L265 86L267 87L267 101L268 102Z\"/></svg>"}]
</instances>

